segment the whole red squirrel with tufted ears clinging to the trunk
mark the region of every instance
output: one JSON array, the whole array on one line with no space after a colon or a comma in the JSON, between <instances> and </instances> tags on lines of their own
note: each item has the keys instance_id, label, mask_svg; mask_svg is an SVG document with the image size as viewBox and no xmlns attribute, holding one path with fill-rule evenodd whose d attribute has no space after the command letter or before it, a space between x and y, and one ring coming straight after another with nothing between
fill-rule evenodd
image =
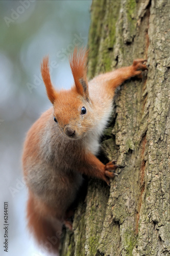
<instances>
[{"instance_id":1,"label":"whole red squirrel with tufted ears clinging to the trunk","mask_svg":"<svg viewBox=\"0 0 170 256\"><path fill-rule=\"evenodd\" d=\"M54 88L48 57L41 74L52 108L32 125L23 148L23 173L29 190L28 227L37 242L57 253L62 226L70 226L69 207L82 184L82 174L104 180L115 176L115 161L104 165L96 154L99 139L112 112L115 89L147 70L144 59L87 81L87 51L75 48L69 60L74 85Z\"/></svg>"}]
</instances>

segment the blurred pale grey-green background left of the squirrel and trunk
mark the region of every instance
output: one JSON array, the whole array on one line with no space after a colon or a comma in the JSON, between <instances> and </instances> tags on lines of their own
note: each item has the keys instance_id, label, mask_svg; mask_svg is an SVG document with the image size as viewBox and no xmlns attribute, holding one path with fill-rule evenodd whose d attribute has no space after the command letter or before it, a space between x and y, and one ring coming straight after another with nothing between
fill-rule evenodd
<instances>
[{"instance_id":1,"label":"blurred pale grey-green background left of the squirrel and trunk","mask_svg":"<svg viewBox=\"0 0 170 256\"><path fill-rule=\"evenodd\" d=\"M29 127L51 103L40 76L40 61L50 56L56 88L73 82L68 56L86 46L91 0L0 1L0 255L46 255L26 228L27 188L21 155ZM4 251L4 202L8 202L8 252Z\"/></svg>"}]
</instances>

